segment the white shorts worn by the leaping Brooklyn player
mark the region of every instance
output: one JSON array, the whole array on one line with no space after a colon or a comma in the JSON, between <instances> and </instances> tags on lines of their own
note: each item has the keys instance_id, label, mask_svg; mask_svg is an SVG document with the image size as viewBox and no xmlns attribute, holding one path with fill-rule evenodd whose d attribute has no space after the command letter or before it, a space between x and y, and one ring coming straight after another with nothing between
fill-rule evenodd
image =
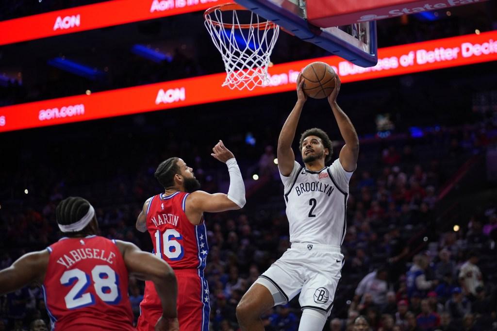
<instances>
[{"instance_id":1,"label":"white shorts worn by the leaping Brooklyn player","mask_svg":"<svg viewBox=\"0 0 497 331\"><path fill-rule=\"evenodd\" d=\"M295 243L255 282L271 292L275 306L300 292L302 310L315 309L329 316L342 265L343 254L337 246Z\"/></svg>"}]
</instances>

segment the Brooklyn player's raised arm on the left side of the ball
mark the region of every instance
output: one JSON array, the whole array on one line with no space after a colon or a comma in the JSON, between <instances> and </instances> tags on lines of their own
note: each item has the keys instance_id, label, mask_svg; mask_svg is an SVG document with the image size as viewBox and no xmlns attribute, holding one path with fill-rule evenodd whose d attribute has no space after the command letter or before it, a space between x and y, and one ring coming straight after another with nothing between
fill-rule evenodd
<instances>
[{"instance_id":1,"label":"Brooklyn player's raised arm on the left side of the ball","mask_svg":"<svg viewBox=\"0 0 497 331\"><path fill-rule=\"evenodd\" d=\"M282 175L289 176L292 172L295 154L293 154L292 143L295 138L295 131L297 130L297 124L299 123L300 113L304 107L304 103L307 100L307 96L302 90L304 80L302 79L302 74L297 78L297 103L293 107L290 115L283 124L280 136L278 139L278 149L276 151L278 158L278 168Z\"/></svg>"}]
</instances>

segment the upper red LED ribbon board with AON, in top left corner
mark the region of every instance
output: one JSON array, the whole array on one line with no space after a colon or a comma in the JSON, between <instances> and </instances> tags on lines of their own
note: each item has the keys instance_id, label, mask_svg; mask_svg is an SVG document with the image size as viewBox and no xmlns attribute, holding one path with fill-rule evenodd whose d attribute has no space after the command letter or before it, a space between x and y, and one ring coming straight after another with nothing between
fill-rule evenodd
<instances>
[{"instance_id":1,"label":"upper red LED ribbon board with AON, in top left corner","mask_svg":"<svg viewBox=\"0 0 497 331\"><path fill-rule=\"evenodd\" d=\"M0 22L0 45L205 10L228 0L113 0Z\"/></svg>"}]
</instances>

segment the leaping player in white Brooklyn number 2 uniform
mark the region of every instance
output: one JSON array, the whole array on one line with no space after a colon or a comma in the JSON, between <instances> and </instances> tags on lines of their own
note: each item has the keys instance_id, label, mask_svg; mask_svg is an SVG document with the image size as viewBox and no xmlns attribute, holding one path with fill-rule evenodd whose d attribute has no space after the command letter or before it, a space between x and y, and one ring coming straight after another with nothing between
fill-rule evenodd
<instances>
[{"instance_id":1,"label":"leaping player in white Brooklyn number 2 uniform","mask_svg":"<svg viewBox=\"0 0 497 331\"><path fill-rule=\"evenodd\" d=\"M309 129L300 139L304 165L295 162L292 142L307 99L303 80L297 80L298 100L278 140L278 167L285 185L286 215L290 223L289 248L248 289L237 307L243 331L262 331L260 316L286 304L300 292L299 331L323 330L330 316L341 277L348 182L356 168L359 140L354 126L336 103L340 80L328 97L345 145L330 166L332 145L321 129Z\"/></svg>"}]
</instances>

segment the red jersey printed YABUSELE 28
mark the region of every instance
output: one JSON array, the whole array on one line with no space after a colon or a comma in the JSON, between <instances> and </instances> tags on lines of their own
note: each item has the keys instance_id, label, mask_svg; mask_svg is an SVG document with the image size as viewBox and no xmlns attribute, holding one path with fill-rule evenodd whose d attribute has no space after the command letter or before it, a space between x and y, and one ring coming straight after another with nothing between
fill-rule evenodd
<instances>
[{"instance_id":1,"label":"red jersey printed YABUSELE 28","mask_svg":"<svg viewBox=\"0 0 497 331\"><path fill-rule=\"evenodd\" d=\"M47 249L43 294L52 330L135 330L128 270L115 241L63 238Z\"/></svg>"}]
</instances>

